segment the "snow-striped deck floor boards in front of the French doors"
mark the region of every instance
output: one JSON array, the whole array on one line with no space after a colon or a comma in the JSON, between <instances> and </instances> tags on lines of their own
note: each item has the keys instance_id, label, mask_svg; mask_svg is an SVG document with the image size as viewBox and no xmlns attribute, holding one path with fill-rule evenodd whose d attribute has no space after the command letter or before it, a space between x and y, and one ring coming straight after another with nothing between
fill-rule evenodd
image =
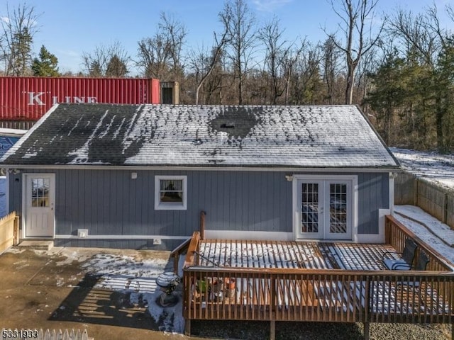
<instances>
[{"instance_id":1,"label":"snow-striped deck floor boards in front of the French doors","mask_svg":"<svg viewBox=\"0 0 454 340\"><path fill-rule=\"evenodd\" d=\"M343 242L225 241L201 242L201 266L246 268L314 268L384 270L385 252L397 253L388 244Z\"/></svg>"}]
</instances>

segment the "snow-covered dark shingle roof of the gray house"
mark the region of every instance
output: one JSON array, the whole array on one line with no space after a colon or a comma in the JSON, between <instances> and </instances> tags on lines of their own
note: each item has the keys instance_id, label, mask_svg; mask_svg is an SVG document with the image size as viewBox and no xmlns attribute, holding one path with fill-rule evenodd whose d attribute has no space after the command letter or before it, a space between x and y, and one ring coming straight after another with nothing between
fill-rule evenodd
<instances>
[{"instance_id":1,"label":"snow-covered dark shingle roof of the gray house","mask_svg":"<svg viewBox=\"0 0 454 340\"><path fill-rule=\"evenodd\" d=\"M355 106L59 104L3 164L394 168Z\"/></svg>"}]
</instances>

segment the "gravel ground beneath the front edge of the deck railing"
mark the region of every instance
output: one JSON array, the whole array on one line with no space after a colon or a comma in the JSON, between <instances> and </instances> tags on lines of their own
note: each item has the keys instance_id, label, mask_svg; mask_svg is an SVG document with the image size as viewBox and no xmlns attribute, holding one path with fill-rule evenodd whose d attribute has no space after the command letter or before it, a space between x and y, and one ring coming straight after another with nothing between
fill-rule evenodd
<instances>
[{"instance_id":1,"label":"gravel ground beneath the front edge of the deck railing","mask_svg":"<svg viewBox=\"0 0 454 340\"><path fill-rule=\"evenodd\" d=\"M268 339L267 322L192 321L192 335L208 339ZM362 340L361 323L276 322L277 340ZM371 340L447 340L450 326L426 324L370 324Z\"/></svg>"}]
</instances>

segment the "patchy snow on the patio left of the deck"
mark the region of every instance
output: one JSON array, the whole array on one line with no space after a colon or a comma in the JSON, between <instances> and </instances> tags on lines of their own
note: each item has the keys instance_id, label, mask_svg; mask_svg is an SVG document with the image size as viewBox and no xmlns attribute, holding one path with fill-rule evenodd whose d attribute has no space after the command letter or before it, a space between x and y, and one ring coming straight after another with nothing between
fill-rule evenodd
<instances>
[{"instance_id":1,"label":"patchy snow on the patio left of the deck","mask_svg":"<svg viewBox=\"0 0 454 340\"><path fill-rule=\"evenodd\" d=\"M9 249L13 251L13 249ZM13 251L18 252L18 251ZM20 252L20 251L19 251ZM172 307L161 307L157 300L162 290L156 285L156 278L166 271L172 271L167 256L153 251L140 254L124 255L118 249L103 249L92 256L93 252L87 252L83 248L60 248L51 249L51 254L65 256L65 259L57 262L57 266L65 266L73 261L82 263L84 273L96 276L98 280L94 288L125 293L129 296L131 305L145 307L155 320L160 331L172 334L182 334L184 331L184 318L182 315L182 287L175 290L178 303ZM173 263L173 261L172 261ZM180 256L179 275L182 276L184 256Z\"/></svg>"}]
</instances>

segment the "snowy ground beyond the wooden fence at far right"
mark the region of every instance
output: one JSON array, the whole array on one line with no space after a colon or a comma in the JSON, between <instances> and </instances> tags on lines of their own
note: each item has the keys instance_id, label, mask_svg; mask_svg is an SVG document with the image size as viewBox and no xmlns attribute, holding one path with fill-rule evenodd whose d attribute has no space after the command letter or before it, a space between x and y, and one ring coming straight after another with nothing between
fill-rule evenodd
<instances>
[{"instance_id":1,"label":"snowy ground beyond the wooden fence at far right","mask_svg":"<svg viewBox=\"0 0 454 340\"><path fill-rule=\"evenodd\" d=\"M428 181L454 189L454 154L438 154L390 147L402 167Z\"/></svg>"}]
</instances>

